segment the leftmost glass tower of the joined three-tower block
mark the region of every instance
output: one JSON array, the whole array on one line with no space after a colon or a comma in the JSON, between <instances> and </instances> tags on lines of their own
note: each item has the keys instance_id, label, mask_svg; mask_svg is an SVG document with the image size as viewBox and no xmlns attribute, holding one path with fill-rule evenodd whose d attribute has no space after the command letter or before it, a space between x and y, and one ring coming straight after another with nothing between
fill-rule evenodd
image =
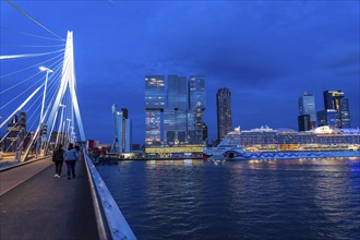
<instances>
[{"instance_id":1,"label":"leftmost glass tower of the joined three-tower block","mask_svg":"<svg viewBox=\"0 0 360 240\"><path fill-rule=\"evenodd\" d=\"M145 144L161 144L161 119L165 108L164 75L145 76Z\"/></svg>"}]
</instances>

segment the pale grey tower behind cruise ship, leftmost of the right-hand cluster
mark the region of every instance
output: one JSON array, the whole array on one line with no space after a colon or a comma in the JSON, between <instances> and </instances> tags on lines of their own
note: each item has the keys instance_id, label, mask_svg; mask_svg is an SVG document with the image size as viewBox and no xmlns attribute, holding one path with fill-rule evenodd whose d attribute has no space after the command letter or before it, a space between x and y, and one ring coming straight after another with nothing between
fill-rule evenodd
<instances>
[{"instance_id":1,"label":"pale grey tower behind cruise ship, leftmost of the right-hand cluster","mask_svg":"<svg viewBox=\"0 0 360 240\"><path fill-rule=\"evenodd\" d=\"M305 116L309 116L310 119ZM314 95L304 92L299 97L299 131L309 131L316 128L316 110Z\"/></svg>"}]
</instances>

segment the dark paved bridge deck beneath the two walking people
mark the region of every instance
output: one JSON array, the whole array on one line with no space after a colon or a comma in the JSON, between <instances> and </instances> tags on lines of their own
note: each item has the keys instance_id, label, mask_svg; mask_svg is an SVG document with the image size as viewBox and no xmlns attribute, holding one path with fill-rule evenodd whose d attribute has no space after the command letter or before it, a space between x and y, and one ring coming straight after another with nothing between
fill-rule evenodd
<instances>
[{"instance_id":1,"label":"dark paved bridge deck beneath the two walking people","mask_svg":"<svg viewBox=\"0 0 360 240\"><path fill-rule=\"evenodd\" d=\"M0 173L0 184L8 184L23 178L20 171L38 171L0 196L0 239L98 239L85 163L77 161L76 178L68 180L65 165L58 179L49 161Z\"/></svg>"}]
</instances>

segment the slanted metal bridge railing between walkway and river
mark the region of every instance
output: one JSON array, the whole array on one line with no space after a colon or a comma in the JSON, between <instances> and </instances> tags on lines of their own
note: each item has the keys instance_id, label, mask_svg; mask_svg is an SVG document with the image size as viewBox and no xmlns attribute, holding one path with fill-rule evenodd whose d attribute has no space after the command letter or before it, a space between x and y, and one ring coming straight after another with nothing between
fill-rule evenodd
<instances>
[{"instance_id":1,"label":"slanted metal bridge railing between walkway and river","mask_svg":"<svg viewBox=\"0 0 360 240\"><path fill-rule=\"evenodd\" d=\"M83 151L100 239L136 239L92 159ZM109 235L110 232L110 235Z\"/></svg>"}]
</instances>

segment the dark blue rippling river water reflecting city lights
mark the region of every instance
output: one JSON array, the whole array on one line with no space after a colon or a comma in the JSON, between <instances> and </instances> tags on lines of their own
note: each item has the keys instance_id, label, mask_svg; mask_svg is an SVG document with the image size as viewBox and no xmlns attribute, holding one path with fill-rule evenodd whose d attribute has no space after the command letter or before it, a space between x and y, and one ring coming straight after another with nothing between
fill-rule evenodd
<instances>
[{"instance_id":1,"label":"dark blue rippling river water reflecting city lights","mask_svg":"<svg viewBox=\"0 0 360 240\"><path fill-rule=\"evenodd\" d=\"M137 239L359 239L360 159L98 166Z\"/></svg>"}]
</instances>

